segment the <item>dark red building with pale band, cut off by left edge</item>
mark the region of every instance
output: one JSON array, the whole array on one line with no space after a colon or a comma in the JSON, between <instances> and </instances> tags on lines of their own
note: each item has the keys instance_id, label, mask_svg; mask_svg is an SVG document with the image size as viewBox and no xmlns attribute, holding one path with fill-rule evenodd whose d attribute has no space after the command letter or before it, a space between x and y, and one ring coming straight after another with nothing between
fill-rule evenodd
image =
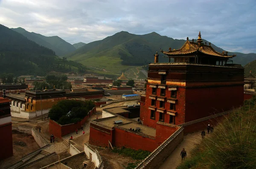
<instances>
[{"instance_id":1,"label":"dark red building with pale band, cut off by left edge","mask_svg":"<svg viewBox=\"0 0 256 169\"><path fill-rule=\"evenodd\" d=\"M12 156L12 120L10 110L10 100L0 97L0 139L1 153L0 159Z\"/></svg>"}]
</instances>

